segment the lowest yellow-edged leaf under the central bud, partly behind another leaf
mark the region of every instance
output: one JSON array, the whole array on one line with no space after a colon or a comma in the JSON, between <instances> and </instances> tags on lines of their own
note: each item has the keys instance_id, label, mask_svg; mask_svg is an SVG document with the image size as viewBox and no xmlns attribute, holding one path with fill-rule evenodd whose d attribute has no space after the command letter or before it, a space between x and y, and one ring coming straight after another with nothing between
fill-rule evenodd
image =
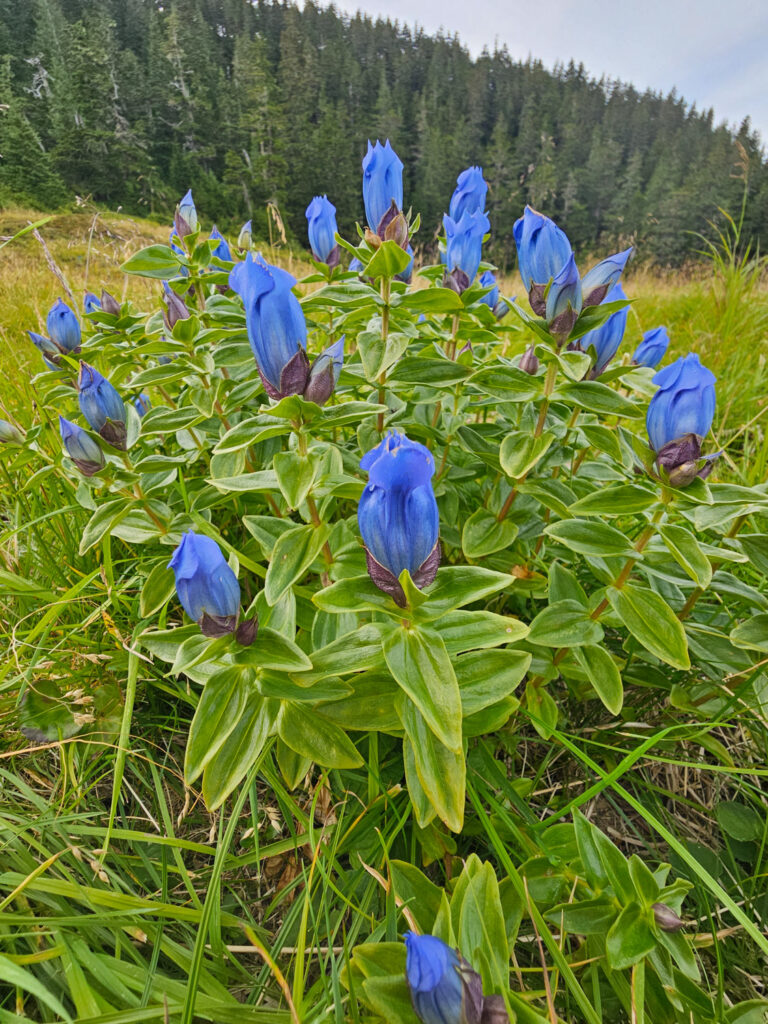
<instances>
[{"instance_id":1,"label":"lowest yellow-edged leaf under the central bud, partly behind another leaf","mask_svg":"<svg viewBox=\"0 0 768 1024\"><path fill-rule=\"evenodd\" d=\"M406 730L404 744L410 746L413 767L424 795L441 821L452 831L461 831L467 768L463 749L450 750L440 742L416 705L404 693L398 694L395 707ZM406 758L406 781L411 788L409 758Z\"/></svg>"}]
</instances>

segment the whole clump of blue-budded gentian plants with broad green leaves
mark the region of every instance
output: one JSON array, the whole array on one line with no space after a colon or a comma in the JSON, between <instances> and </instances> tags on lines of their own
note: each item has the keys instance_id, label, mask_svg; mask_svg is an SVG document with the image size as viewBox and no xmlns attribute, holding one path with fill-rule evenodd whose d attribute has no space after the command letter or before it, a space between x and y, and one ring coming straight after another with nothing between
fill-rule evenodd
<instances>
[{"instance_id":1,"label":"whole clump of blue-budded gentian plants with broad green leaves","mask_svg":"<svg viewBox=\"0 0 768 1024\"><path fill-rule=\"evenodd\" d=\"M479 743L509 750L528 723L562 742L566 709L618 718L626 684L660 687L673 716L712 713L702 688L724 674L755 698L768 615L738 568L765 552L768 494L718 482L697 355L658 369L662 327L623 350L631 250L582 273L526 208L526 311L482 258L481 168L416 270L388 140L362 172L356 243L327 196L309 202L301 287L250 223L237 246L204 237L187 193L169 245L124 266L157 280L154 310L88 293L82 328L58 300L30 336L60 425L50 471L90 513L80 552L134 553L135 643L196 694L187 785L215 810L268 759L291 787L323 769L357 792L386 750L426 862L461 840ZM35 452L45 430L3 421L0 441ZM708 998L681 931L689 884L578 810L547 836L544 866L502 845L436 899L392 860L404 944L358 946L345 975L372 1019L554 1020L552 993L510 973L523 920L560 930L548 949L585 1020L600 1018L580 978L594 991L601 973L628 1017L641 986L654 1021L689 1019Z\"/></svg>"}]
</instances>

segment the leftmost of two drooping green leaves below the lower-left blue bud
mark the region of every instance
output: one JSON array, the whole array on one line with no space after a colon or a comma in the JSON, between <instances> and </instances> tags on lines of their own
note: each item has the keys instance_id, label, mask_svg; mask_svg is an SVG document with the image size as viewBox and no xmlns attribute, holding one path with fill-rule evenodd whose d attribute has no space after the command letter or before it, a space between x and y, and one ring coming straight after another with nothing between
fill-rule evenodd
<instances>
[{"instance_id":1,"label":"leftmost of two drooping green leaves below the lower-left blue bud","mask_svg":"<svg viewBox=\"0 0 768 1024\"><path fill-rule=\"evenodd\" d=\"M246 707L249 686L240 669L217 672L203 687L189 726L184 781L191 785L226 741Z\"/></svg>"}]
</instances>

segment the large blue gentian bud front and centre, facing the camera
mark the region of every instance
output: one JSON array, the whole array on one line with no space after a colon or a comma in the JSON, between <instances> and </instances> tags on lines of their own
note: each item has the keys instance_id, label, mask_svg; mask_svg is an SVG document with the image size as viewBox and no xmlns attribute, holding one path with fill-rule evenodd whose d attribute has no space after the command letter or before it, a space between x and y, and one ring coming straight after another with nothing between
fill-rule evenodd
<instances>
[{"instance_id":1,"label":"large blue gentian bud front and centre, facing the camera","mask_svg":"<svg viewBox=\"0 0 768 1024\"><path fill-rule=\"evenodd\" d=\"M423 444L392 431L362 457L360 469L369 474L357 506L368 571L380 590L404 607L400 572L408 569L423 589L440 562L434 459Z\"/></svg>"}]
</instances>

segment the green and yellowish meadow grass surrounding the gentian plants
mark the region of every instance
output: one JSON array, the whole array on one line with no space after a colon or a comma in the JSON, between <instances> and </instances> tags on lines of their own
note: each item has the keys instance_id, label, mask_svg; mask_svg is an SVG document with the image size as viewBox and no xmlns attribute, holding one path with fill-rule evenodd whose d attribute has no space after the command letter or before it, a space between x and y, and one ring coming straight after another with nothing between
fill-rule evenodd
<instances>
[{"instance_id":1,"label":"green and yellowish meadow grass surrounding the gentian plants","mask_svg":"<svg viewBox=\"0 0 768 1024\"><path fill-rule=\"evenodd\" d=\"M38 216L0 214L0 234ZM139 308L159 288L127 281L119 264L142 245L166 242L165 225L87 211L56 216L40 232L79 308L85 288L98 292L103 285ZM308 268L290 254L286 260L294 272ZM40 368L25 331L44 329L62 288L34 238L0 250L0 401L22 423ZM764 480L765 284L744 275L739 283L712 267L686 274L640 269L626 290L635 300L627 350L644 330L666 324L673 355L698 351L727 382L716 433L729 444L730 472L744 482ZM503 291L519 294L519 282L506 281ZM0 1022L67 1020L67 999L81 1024L362 1020L342 984L349 950L358 941L396 936L394 903L382 882L389 858L415 856L404 827L408 796L388 776L396 751L382 738L353 793L342 793L326 772L290 792L264 759L233 806L207 812L182 781L194 695L138 657L110 612L111 574L129 566L104 565L86 575L78 528L87 515L53 478L45 488L6 490L3 500L0 978L7 991ZM103 669L106 660L114 676ZM112 720L102 716L101 731L87 739L31 743L18 731L18 694L50 675L67 679L67 700L84 714L94 699L108 707L113 700ZM500 770L489 744L478 743L469 795L477 811L488 813L468 821L469 835L481 856L502 864L546 856L538 823L548 813L566 814L589 793L594 819L626 852L671 859L693 882L689 927L724 1012L731 1001L764 994L768 971L743 930L716 909L695 864L765 927L765 706L740 707L729 681L710 681L712 692L700 695L711 701L710 720L681 725L671 686L663 700L641 677L631 682L623 720L592 701L567 709L573 724L556 735L558 743L542 741L524 725L503 734L502 748L508 743L528 766L515 781ZM126 721L120 706L129 687L136 703ZM121 724L128 731L119 739ZM126 745L113 803L117 752ZM360 793L368 794L365 802ZM717 854L712 850L715 808L730 800L764 822L749 865L737 843L726 839ZM530 826L524 843L521 821ZM447 876L452 857L450 846L435 849L433 869ZM529 939L518 953L520 977L535 993L564 990L567 1004L556 936L545 934L544 959L536 937ZM600 1007L602 1019L623 1020L616 1007ZM566 1013L562 1019L582 1020L575 1004Z\"/></svg>"}]
</instances>

